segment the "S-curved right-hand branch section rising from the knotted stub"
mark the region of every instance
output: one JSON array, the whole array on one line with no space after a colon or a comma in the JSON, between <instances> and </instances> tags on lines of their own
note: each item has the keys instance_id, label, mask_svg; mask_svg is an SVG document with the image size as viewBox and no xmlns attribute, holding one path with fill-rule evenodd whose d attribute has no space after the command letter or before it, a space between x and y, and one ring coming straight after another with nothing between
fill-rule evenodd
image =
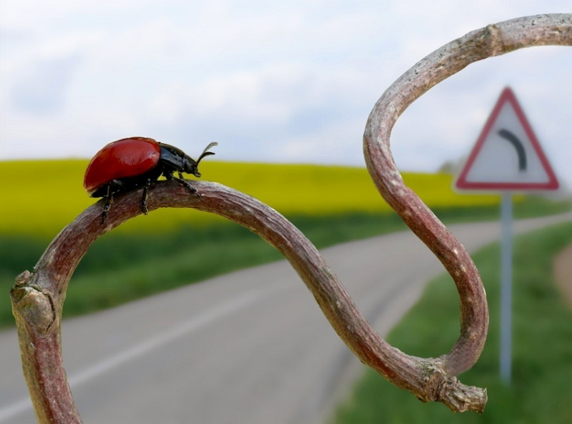
<instances>
[{"instance_id":1,"label":"S-curved right-hand branch section rising from the knotted stub","mask_svg":"<svg viewBox=\"0 0 572 424\"><path fill-rule=\"evenodd\" d=\"M366 165L377 189L410 229L439 257L461 297L461 336L443 357L447 374L472 367L483 350L488 309L481 277L463 245L404 184L389 139L395 121L428 89L470 63L534 45L572 45L572 14L547 14L488 25L426 56L377 100L364 132Z\"/></svg>"}]
</instances>

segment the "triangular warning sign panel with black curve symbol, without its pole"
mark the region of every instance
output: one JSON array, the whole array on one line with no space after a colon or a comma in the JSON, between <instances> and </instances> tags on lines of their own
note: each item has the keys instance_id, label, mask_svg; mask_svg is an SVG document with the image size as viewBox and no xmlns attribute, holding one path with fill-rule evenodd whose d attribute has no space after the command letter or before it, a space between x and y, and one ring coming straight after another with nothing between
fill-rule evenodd
<instances>
[{"instance_id":1,"label":"triangular warning sign panel with black curve symbol, without its pole","mask_svg":"<svg viewBox=\"0 0 572 424\"><path fill-rule=\"evenodd\" d=\"M456 187L463 190L558 189L558 180L510 88L500 94L456 180Z\"/></svg>"}]
</instances>

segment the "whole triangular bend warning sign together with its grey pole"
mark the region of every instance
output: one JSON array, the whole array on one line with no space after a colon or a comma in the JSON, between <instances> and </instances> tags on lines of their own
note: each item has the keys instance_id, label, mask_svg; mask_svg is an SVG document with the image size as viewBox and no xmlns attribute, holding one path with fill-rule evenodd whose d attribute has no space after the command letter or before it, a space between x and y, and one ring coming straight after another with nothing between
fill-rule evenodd
<instances>
[{"instance_id":1,"label":"whole triangular bend warning sign together with its grey pole","mask_svg":"<svg viewBox=\"0 0 572 424\"><path fill-rule=\"evenodd\" d=\"M500 203L500 377L512 368L512 196L558 189L558 180L510 88L500 94L455 182L464 190L496 191Z\"/></svg>"}]
</instances>

